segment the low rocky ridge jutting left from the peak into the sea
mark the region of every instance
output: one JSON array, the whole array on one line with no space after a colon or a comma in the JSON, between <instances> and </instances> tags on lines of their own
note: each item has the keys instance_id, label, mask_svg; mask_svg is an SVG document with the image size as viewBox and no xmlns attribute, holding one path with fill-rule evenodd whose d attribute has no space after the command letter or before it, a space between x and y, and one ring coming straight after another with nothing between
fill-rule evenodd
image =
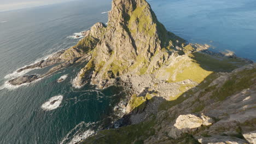
<instances>
[{"instance_id":1,"label":"low rocky ridge jutting left from the peak into the sea","mask_svg":"<svg viewBox=\"0 0 256 144\"><path fill-rule=\"evenodd\" d=\"M45 76L51 75L56 71L68 67L71 64L78 62L88 62L92 55L91 51L95 49L96 44L101 38L99 35L103 33L103 29L106 27L104 23L98 22L89 31L85 32L85 38L80 40L77 45L70 47L69 49L62 50L54 53L49 58L39 61L35 64L28 65L24 68L17 70L17 73L21 73L26 70L46 68L52 65L56 65L51 68L47 73L43 75L24 75L16 77L8 82L11 85L18 86L24 83L30 83L38 79L42 79ZM100 29L100 30L99 30Z\"/></svg>"}]
</instances>

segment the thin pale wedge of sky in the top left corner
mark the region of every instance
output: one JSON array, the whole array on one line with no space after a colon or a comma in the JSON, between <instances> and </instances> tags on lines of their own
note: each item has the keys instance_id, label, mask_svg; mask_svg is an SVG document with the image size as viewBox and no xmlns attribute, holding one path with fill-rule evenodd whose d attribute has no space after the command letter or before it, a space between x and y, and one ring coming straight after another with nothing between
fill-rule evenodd
<instances>
[{"instance_id":1,"label":"thin pale wedge of sky in the top left corner","mask_svg":"<svg viewBox=\"0 0 256 144\"><path fill-rule=\"evenodd\" d=\"M40 5L68 2L74 0L0 0L0 11L31 8Z\"/></svg>"}]
</instances>

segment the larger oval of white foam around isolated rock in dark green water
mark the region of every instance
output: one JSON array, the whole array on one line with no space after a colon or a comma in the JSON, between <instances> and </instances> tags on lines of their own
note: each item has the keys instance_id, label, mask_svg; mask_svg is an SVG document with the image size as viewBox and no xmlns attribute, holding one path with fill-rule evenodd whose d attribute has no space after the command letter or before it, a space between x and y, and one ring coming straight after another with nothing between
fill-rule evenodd
<instances>
[{"instance_id":1,"label":"larger oval of white foam around isolated rock in dark green water","mask_svg":"<svg viewBox=\"0 0 256 144\"><path fill-rule=\"evenodd\" d=\"M62 95L57 95L55 97L52 97L48 101L46 101L41 106L41 108L45 111L51 111L51 110L57 109L57 107L60 106L62 99L63 99Z\"/></svg>"}]
</instances>

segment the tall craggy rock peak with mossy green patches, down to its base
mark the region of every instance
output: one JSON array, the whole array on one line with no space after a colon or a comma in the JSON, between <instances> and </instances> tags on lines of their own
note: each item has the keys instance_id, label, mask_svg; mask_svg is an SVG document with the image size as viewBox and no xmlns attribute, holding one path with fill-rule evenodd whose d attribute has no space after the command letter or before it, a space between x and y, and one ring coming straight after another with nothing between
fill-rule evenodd
<instances>
[{"instance_id":1,"label":"tall craggy rock peak with mossy green patches, down to its base","mask_svg":"<svg viewBox=\"0 0 256 144\"><path fill-rule=\"evenodd\" d=\"M74 85L79 87L91 80L104 87L109 79L129 72L150 73L171 55L178 55L177 49L184 43L166 31L145 0L114 0L106 31Z\"/></svg>"}]
</instances>

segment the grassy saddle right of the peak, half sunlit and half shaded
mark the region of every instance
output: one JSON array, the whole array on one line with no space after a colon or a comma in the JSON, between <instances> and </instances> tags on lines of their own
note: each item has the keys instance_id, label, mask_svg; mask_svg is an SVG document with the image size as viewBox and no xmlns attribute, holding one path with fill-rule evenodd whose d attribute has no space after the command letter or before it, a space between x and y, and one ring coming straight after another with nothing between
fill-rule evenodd
<instances>
[{"instance_id":1,"label":"grassy saddle right of the peak, half sunlit and half shaded","mask_svg":"<svg viewBox=\"0 0 256 144\"><path fill-rule=\"evenodd\" d=\"M191 48L191 47L190 47ZM190 49L188 47L188 49ZM177 62L165 69L170 75L167 82L179 82L187 79L202 82L208 75L219 71L232 71L246 62L239 58L215 57L206 53L194 52L189 58L182 56Z\"/></svg>"}]
</instances>

